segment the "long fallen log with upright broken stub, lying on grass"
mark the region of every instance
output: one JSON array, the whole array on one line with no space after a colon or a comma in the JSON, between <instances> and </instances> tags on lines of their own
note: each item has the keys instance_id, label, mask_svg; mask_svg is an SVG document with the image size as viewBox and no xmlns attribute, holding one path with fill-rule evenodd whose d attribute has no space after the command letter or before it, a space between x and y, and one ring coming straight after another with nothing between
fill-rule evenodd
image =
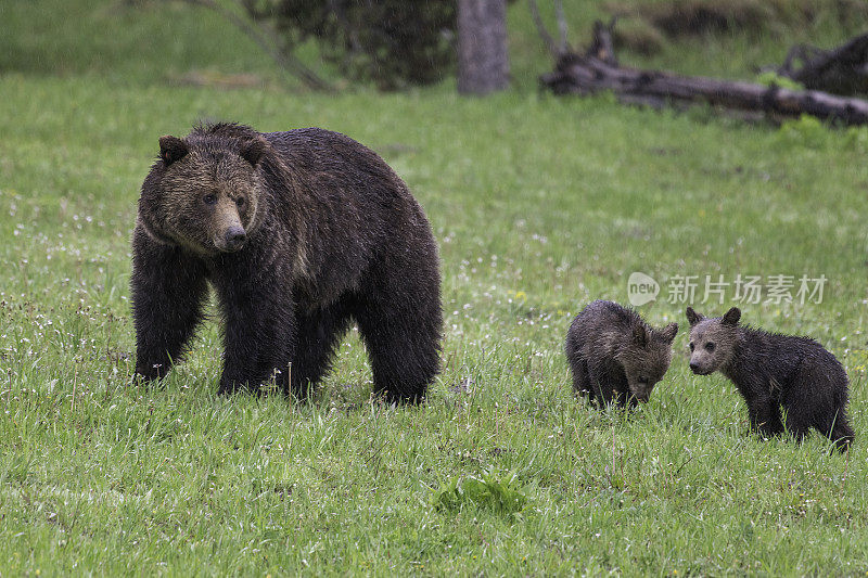
<instances>
[{"instance_id":1,"label":"long fallen log with upright broken stub, lying on grass","mask_svg":"<svg viewBox=\"0 0 868 578\"><path fill-rule=\"evenodd\" d=\"M591 47L611 47L600 34L611 26L596 25ZM618 66L614 54L561 54L556 69L540 76L540 84L556 94L593 94L612 91L621 100L661 107L685 103L705 103L743 112L762 112L774 117L808 114L846 125L868 124L868 101L838 97L818 90L790 90L778 86L681 76L663 70L642 70Z\"/></svg>"}]
</instances>

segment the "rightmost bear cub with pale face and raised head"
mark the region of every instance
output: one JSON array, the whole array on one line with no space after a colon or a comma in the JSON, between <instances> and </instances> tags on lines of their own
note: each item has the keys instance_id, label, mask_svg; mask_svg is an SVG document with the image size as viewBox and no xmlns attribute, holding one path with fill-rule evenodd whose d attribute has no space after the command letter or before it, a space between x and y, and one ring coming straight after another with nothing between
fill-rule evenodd
<instances>
[{"instance_id":1,"label":"rightmost bear cub with pale face and raised head","mask_svg":"<svg viewBox=\"0 0 868 578\"><path fill-rule=\"evenodd\" d=\"M847 423L847 374L835 357L808 337L766 333L739 325L733 307L724 317L705 318L690 307L690 370L719 371L748 402L751 429L764 436L787 429L802 440L817 428L845 451L853 441Z\"/></svg>"}]
</instances>

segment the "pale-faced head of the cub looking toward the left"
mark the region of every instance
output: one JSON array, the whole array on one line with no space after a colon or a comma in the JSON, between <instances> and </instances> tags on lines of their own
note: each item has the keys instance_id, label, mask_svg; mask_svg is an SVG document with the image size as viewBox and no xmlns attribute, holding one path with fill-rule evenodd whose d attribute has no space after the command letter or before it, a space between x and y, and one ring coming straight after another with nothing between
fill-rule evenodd
<instances>
[{"instance_id":1,"label":"pale-faced head of the cub looking toward the left","mask_svg":"<svg viewBox=\"0 0 868 578\"><path fill-rule=\"evenodd\" d=\"M690 322L690 371L697 375L709 375L725 367L732 359L738 342L741 311L733 307L724 317L706 318L687 308Z\"/></svg>"}]
</instances>

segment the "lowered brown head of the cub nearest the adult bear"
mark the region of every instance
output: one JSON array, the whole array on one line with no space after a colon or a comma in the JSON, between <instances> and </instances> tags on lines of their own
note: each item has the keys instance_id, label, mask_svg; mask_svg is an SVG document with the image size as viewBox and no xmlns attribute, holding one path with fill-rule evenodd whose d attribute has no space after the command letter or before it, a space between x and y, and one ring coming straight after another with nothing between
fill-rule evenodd
<instances>
[{"instance_id":1,"label":"lowered brown head of the cub nearest the adult bear","mask_svg":"<svg viewBox=\"0 0 868 578\"><path fill-rule=\"evenodd\" d=\"M642 323L633 326L629 345L618 356L627 376L630 394L638 401L648 401L654 385L663 380L672 361L672 342L678 333L678 323L662 330Z\"/></svg>"}]
</instances>

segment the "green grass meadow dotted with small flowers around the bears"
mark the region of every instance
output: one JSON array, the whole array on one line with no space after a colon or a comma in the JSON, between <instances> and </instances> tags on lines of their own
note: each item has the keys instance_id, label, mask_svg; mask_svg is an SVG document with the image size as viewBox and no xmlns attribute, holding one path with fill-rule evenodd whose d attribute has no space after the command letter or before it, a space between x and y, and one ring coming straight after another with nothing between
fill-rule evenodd
<instances>
[{"instance_id":1,"label":"green grass meadow dotted with small flowers around the bears","mask_svg":"<svg viewBox=\"0 0 868 578\"><path fill-rule=\"evenodd\" d=\"M559 100L526 76L484 100L180 87L165 51L136 64L63 18L61 48L35 49L68 57L58 69L22 48L25 4L0 8L21 54L0 61L0 575L868 575L868 131ZM127 39L158 29L125 18ZM101 42L108 64L81 64ZM244 50L190 50L175 73L273 74ZM202 118L339 130L407 181L443 259L444 370L424 406L370 400L355 334L310 402L218 398L214 322L163 386L129 386L138 188L158 136ZM640 312L682 329L650 402L598 413L572 397L563 337L588 301L626 303L634 271L663 292ZM693 306L740 305L832 350L848 455L748 436L732 385L689 372L685 304L664 297L706 274L828 279L819 304L730 287ZM524 509L433 503L468 476L512 479Z\"/></svg>"}]
</instances>

